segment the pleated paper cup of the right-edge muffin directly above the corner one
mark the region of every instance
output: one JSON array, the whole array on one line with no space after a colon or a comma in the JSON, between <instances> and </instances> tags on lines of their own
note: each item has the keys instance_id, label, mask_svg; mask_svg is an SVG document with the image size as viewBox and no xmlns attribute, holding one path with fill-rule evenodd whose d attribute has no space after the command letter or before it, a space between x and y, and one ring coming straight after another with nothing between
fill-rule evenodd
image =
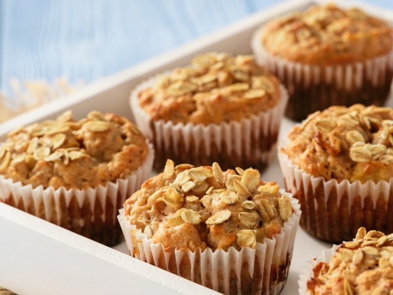
<instances>
[{"instance_id":1,"label":"pleated paper cup of the right-edge muffin directly above the corner one","mask_svg":"<svg viewBox=\"0 0 393 295\"><path fill-rule=\"evenodd\" d=\"M285 188L302 207L300 225L311 235L330 242L352 240L360 227L393 232L393 178L337 182L315 177L279 152Z\"/></svg>"}]
</instances>

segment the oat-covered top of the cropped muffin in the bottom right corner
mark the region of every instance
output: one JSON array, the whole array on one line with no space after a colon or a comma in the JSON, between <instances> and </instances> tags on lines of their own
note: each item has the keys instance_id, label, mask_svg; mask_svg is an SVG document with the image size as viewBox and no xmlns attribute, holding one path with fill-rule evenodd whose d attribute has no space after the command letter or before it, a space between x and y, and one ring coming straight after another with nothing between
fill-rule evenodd
<instances>
[{"instance_id":1,"label":"oat-covered top of the cropped muffin in the bottom right corner","mask_svg":"<svg viewBox=\"0 0 393 295\"><path fill-rule=\"evenodd\" d=\"M307 282L312 295L392 294L393 234L366 233L362 227L354 241L338 246L330 262L318 263L313 271Z\"/></svg>"}]
</instances>

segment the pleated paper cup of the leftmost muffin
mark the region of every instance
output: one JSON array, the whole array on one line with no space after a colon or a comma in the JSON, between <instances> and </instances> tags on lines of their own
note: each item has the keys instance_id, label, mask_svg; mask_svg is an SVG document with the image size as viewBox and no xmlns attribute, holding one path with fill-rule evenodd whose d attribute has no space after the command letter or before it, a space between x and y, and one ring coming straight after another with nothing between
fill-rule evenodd
<instances>
[{"instance_id":1,"label":"pleated paper cup of the leftmost muffin","mask_svg":"<svg viewBox=\"0 0 393 295\"><path fill-rule=\"evenodd\" d=\"M59 187L35 188L0 176L0 201L45 219L74 233L111 246L121 241L116 220L124 201L150 177L154 149L148 143L144 163L132 174L106 186L85 190Z\"/></svg>"}]
</instances>

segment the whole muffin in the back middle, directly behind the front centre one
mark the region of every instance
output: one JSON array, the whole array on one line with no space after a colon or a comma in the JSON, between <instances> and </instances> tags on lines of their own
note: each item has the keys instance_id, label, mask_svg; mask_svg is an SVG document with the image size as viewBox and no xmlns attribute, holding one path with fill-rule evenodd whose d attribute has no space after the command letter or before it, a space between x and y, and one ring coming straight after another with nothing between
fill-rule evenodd
<instances>
[{"instance_id":1,"label":"whole muffin in the back middle, directly behind the front centre one","mask_svg":"<svg viewBox=\"0 0 393 295\"><path fill-rule=\"evenodd\" d=\"M141 83L131 93L140 129L154 144L155 167L263 168L274 157L287 102L279 80L253 56L208 53Z\"/></svg>"}]
</instances>

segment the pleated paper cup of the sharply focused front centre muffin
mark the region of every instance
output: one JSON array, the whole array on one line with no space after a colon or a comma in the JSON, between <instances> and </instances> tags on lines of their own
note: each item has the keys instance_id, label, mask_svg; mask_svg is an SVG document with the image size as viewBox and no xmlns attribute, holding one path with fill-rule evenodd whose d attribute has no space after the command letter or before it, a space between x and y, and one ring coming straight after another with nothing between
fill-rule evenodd
<instances>
[{"instance_id":1,"label":"pleated paper cup of the sharply focused front centre muffin","mask_svg":"<svg viewBox=\"0 0 393 295\"><path fill-rule=\"evenodd\" d=\"M131 225L124 209L117 218L129 253L135 258L224 294L276 295L287 279L301 215L298 201L290 199L294 212L284 222L281 233L256 243L255 249L244 247L240 251L234 247L226 252L222 249L213 252L210 248L192 252L175 246L164 249L162 243L153 243L152 238Z\"/></svg>"}]
</instances>

